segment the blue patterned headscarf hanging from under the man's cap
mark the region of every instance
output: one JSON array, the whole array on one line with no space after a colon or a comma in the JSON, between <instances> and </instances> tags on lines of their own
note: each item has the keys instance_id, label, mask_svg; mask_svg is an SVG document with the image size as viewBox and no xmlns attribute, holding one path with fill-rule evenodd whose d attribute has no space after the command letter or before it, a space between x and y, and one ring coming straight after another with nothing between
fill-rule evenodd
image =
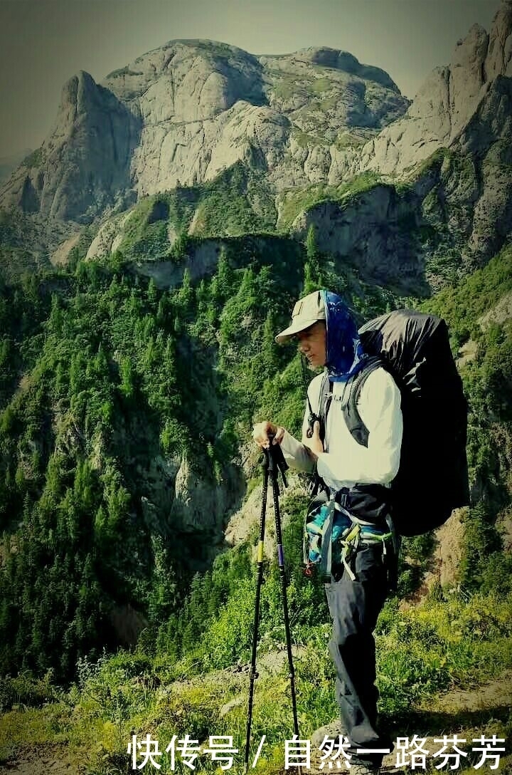
<instances>
[{"instance_id":1,"label":"blue patterned headscarf hanging from under the man's cap","mask_svg":"<svg viewBox=\"0 0 512 775\"><path fill-rule=\"evenodd\" d=\"M345 302L331 291L320 291L326 307L326 367L329 380L346 382L360 371L367 360L357 325Z\"/></svg>"}]
</instances>

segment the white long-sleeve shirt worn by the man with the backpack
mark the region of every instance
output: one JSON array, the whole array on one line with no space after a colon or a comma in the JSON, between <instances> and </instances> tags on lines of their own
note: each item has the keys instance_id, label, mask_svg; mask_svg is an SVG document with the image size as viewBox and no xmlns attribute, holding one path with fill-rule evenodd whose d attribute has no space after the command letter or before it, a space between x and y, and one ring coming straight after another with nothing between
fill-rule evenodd
<instances>
[{"instance_id":1,"label":"white long-sleeve shirt worn by the man with the backpack","mask_svg":"<svg viewBox=\"0 0 512 775\"><path fill-rule=\"evenodd\" d=\"M315 377L308 388L312 411L318 414L323 374ZM390 374L382 368L372 371L364 382L357 401L357 411L368 429L368 446L358 444L343 418L340 399L343 382L333 383L333 398L326 422L326 452L318 456L317 470L333 491L354 484L384 484L398 473L402 438L400 391ZM309 407L306 403L302 438L308 427ZM307 450L297 439L285 432L282 451L288 465L302 471L312 471L313 463Z\"/></svg>"}]
</instances>

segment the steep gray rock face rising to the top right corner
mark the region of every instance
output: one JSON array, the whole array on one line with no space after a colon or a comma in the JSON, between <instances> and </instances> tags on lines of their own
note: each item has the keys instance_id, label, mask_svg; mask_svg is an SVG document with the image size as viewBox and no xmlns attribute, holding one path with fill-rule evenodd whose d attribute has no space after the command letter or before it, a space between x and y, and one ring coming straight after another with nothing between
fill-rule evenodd
<instances>
[{"instance_id":1,"label":"steep gray rock face rising to the top right corner","mask_svg":"<svg viewBox=\"0 0 512 775\"><path fill-rule=\"evenodd\" d=\"M357 205L360 219L353 208L313 208L294 224L298 236L316 226L321 248L340 257L355 251L360 266L373 278L381 275L379 267L386 262L391 278L397 268L405 278L421 257L422 263L432 263L426 277L433 288L443 281L435 277L439 262L449 259L451 268L443 271L451 272L453 279L453 273L470 270L500 250L512 237L511 57L512 3L507 0L495 15L490 34L473 26L457 44L449 67L432 71L403 118L359 151L332 157L331 184L368 171L384 180L415 180L409 245L391 238L394 221L382 217L377 192L371 197L373 215L365 199ZM442 164L421 171L441 149L449 149ZM366 243L361 224L371 235ZM418 229L423 239L418 240Z\"/></svg>"}]
</instances>

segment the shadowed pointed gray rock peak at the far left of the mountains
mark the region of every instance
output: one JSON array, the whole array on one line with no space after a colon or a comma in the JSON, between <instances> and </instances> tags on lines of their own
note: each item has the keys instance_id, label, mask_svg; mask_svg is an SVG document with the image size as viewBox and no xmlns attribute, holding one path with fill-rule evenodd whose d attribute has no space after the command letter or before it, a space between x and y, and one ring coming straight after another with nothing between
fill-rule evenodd
<instances>
[{"instance_id":1,"label":"shadowed pointed gray rock peak at the far left of the mountains","mask_svg":"<svg viewBox=\"0 0 512 775\"><path fill-rule=\"evenodd\" d=\"M31 166L19 167L0 204L56 220L87 220L124 198L141 122L111 91L80 72L64 85L52 133Z\"/></svg>"}]
</instances>

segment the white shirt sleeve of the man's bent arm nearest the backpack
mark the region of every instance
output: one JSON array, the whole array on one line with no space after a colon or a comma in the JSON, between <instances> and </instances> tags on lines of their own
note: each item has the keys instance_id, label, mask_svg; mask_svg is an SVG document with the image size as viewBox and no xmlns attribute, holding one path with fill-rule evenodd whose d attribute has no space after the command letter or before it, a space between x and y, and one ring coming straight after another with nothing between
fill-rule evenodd
<instances>
[{"instance_id":1,"label":"white shirt sleeve of the man's bent arm nearest the backpack","mask_svg":"<svg viewBox=\"0 0 512 775\"><path fill-rule=\"evenodd\" d=\"M336 411L335 401L331 412ZM388 485L398 473L402 438L401 395L384 369L373 371L364 383L357 409L368 429L368 446L358 444L346 429L343 449L320 453L318 473L330 481ZM343 418L341 422L344 424ZM336 426L331 422L331 433Z\"/></svg>"}]
</instances>

